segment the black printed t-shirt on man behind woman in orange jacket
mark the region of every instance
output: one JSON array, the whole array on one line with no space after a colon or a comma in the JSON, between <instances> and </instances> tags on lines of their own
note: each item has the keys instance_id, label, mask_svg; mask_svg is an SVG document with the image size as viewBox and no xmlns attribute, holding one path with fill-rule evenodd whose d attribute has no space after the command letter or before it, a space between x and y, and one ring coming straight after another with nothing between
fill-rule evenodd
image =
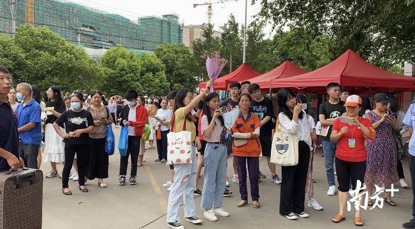
<instances>
[{"instance_id":1,"label":"black printed t-shirt on man behind woman in orange jacket","mask_svg":"<svg viewBox=\"0 0 415 229\"><path fill-rule=\"evenodd\" d=\"M256 113L259 116L259 120L263 120L264 117L269 116L272 118L274 116L274 106L272 105L272 101L268 98L264 98L262 101L257 102L254 99L252 100L251 112ZM272 134L272 120L269 119L263 126L261 126L261 130L259 132L260 136L271 135Z\"/></svg>"}]
</instances>

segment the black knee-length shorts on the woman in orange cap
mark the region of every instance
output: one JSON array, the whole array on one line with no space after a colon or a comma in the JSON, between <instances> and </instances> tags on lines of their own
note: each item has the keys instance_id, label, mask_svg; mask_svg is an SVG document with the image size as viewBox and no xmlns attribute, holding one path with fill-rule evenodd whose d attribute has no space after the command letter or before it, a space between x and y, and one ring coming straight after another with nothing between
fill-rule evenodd
<instances>
[{"instance_id":1,"label":"black knee-length shorts on the woman in orange cap","mask_svg":"<svg viewBox=\"0 0 415 229\"><path fill-rule=\"evenodd\" d=\"M336 164L338 190L340 192L349 192L352 183L352 189L356 189L357 181L363 182L366 173L366 161L363 162L348 162L341 159L334 159Z\"/></svg>"}]
</instances>

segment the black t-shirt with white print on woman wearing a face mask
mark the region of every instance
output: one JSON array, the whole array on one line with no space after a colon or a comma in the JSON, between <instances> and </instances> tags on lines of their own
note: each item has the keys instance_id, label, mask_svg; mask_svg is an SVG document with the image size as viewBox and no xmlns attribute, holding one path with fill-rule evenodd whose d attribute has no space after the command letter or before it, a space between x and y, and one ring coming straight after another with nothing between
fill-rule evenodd
<instances>
[{"instance_id":1,"label":"black t-shirt with white print on woman wearing a face mask","mask_svg":"<svg viewBox=\"0 0 415 229\"><path fill-rule=\"evenodd\" d=\"M55 121L59 125L65 124L65 130L68 134L79 129L85 129L88 126L94 125L94 120L89 111L82 109L80 112L75 112L73 110L67 110L62 113L62 115ZM63 139L65 144L88 144L88 133L83 133L79 138L71 137L69 139Z\"/></svg>"}]
</instances>

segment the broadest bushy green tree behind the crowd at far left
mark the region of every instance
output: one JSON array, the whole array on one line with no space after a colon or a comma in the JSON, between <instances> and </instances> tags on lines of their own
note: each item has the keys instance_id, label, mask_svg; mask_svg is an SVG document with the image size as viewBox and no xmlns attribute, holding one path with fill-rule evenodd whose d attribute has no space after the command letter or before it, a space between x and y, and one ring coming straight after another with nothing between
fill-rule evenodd
<instances>
[{"instance_id":1,"label":"broadest bushy green tree behind the crowd at far left","mask_svg":"<svg viewBox=\"0 0 415 229\"><path fill-rule=\"evenodd\" d=\"M12 67L17 83L36 84L42 91L52 85L72 91L89 90L102 81L102 69L85 50L67 43L46 26L19 26L14 43L17 50L23 51L25 60L23 65L17 61Z\"/></svg>"}]
</instances>

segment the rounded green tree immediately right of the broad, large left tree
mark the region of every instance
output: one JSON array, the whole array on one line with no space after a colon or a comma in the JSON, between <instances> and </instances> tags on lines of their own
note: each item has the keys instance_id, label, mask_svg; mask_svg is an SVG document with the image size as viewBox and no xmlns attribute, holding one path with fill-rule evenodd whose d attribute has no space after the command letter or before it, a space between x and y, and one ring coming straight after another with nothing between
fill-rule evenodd
<instances>
[{"instance_id":1,"label":"rounded green tree immediately right of the broad, large left tree","mask_svg":"<svg viewBox=\"0 0 415 229\"><path fill-rule=\"evenodd\" d=\"M101 90L109 95L124 95L129 89L143 91L141 84L141 64L139 56L133 51L116 46L100 58L105 71Z\"/></svg>"}]
</instances>

